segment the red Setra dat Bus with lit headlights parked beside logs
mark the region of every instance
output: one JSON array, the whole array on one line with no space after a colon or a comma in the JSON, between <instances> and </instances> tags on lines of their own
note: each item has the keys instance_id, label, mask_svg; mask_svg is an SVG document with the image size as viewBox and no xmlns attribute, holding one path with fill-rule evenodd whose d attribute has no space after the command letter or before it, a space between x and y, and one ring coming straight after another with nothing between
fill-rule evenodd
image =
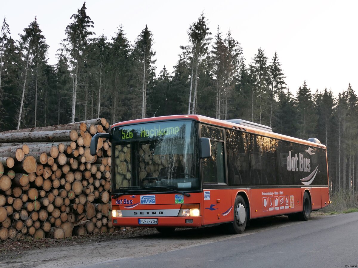
<instances>
[{"instance_id":1,"label":"red Setra dat Bus with lit headlights parked beside logs","mask_svg":"<svg viewBox=\"0 0 358 268\"><path fill-rule=\"evenodd\" d=\"M173 115L112 125L112 222L121 227L225 224L274 215L308 220L330 203L326 147L268 126L201 115Z\"/></svg>"}]
</instances>

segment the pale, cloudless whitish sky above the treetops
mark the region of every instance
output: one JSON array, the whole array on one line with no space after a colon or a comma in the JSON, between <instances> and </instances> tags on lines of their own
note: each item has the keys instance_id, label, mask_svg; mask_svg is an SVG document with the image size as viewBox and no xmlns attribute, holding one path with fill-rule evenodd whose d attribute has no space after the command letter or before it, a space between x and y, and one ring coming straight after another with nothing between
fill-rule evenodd
<instances>
[{"instance_id":1,"label":"pale, cloudless whitish sky above the treetops","mask_svg":"<svg viewBox=\"0 0 358 268\"><path fill-rule=\"evenodd\" d=\"M50 64L56 63L58 44L64 30L83 1L34 0L0 3L0 20L7 18L11 36L18 39L34 16L50 46ZM187 29L200 13L213 35L217 26L241 43L246 64L258 48L272 59L275 51L290 91L295 94L306 80L314 92L331 89L335 96L350 83L358 92L358 1L110 1L87 0L87 15L93 31L108 38L122 24L133 44L145 25L153 33L157 73L173 67L188 42Z\"/></svg>"}]
</instances>

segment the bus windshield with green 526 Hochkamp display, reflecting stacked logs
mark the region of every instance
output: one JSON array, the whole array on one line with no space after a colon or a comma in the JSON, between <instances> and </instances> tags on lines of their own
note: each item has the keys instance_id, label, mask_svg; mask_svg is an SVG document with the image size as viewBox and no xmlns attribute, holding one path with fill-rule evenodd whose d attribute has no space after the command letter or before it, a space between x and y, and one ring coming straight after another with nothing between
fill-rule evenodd
<instances>
[{"instance_id":1,"label":"bus windshield with green 526 Hochkamp display, reflecting stacked logs","mask_svg":"<svg viewBox=\"0 0 358 268\"><path fill-rule=\"evenodd\" d=\"M118 126L111 132L113 193L200 189L194 121Z\"/></svg>"}]
</instances>

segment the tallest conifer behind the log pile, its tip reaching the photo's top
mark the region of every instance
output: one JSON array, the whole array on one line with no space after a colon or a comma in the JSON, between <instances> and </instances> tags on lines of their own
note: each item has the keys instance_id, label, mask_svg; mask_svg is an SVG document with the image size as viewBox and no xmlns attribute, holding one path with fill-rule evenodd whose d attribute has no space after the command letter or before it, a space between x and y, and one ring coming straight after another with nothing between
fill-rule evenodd
<instances>
[{"instance_id":1,"label":"tallest conifer behind the log pile, its tip reaching the photo's top","mask_svg":"<svg viewBox=\"0 0 358 268\"><path fill-rule=\"evenodd\" d=\"M86 14L86 2L83 3L81 9L77 10L77 14L73 14L70 19L73 19L73 21L66 27L67 38L62 40L60 45L63 48L59 51L67 54L72 65L72 122L74 122L79 66L83 64L82 55L88 45L88 38L95 33L89 31L89 28L93 28L94 23Z\"/></svg>"}]
</instances>

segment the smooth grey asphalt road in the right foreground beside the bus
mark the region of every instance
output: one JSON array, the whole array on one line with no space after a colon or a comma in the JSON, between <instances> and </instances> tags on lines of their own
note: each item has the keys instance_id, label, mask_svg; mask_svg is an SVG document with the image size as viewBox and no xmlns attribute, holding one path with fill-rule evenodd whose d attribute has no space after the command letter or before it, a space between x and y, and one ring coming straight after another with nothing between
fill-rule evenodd
<instances>
[{"instance_id":1,"label":"smooth grey asphalt road in the right foreground beside the bus","mask_svg":"<svg viewBox=\"0 0 358 268\"><path fill-rule=\"evenodd\" d=\"M358 267L358 213L267 229L261 225L256 230L260 224L254 222L246 235L145 257L111 259L86 267ZM170 239L175 244L179 237L202 238L203 232L210 238L210 232L215 229L175 232ZM153 240L146 239L142 246L151 247L154 253L158 235L153 235Z\"/></svg>"}]
</instances>

